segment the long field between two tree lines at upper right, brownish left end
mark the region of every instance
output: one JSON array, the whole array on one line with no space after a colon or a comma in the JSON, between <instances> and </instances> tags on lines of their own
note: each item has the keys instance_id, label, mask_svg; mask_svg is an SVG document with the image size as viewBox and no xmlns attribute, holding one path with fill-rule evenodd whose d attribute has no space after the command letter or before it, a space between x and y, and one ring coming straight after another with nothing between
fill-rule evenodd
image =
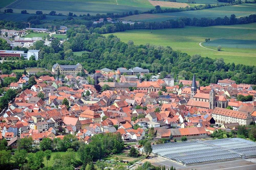
<instances>
[{"instance_id":1,"label":"long field between two tree lines at upper right, brownish left end","mask_svg":"<svg viewBox=\"0 0 256 170\"><path fill-rule=\"evenodd\" d=\"M232 5L232 6L223 6L211 9L195 10L195 11L182 11L174 13L161 13L161 14L139 14L123 17L122 19L126 20L138 20L138 21L166 21L168 19L177 19L180 17L189 17L189 18L218 18L230 16L235 14L237 17L250 15L256 13L256 4L241 4L241 5Z\"/></svg>"}]
</instances>

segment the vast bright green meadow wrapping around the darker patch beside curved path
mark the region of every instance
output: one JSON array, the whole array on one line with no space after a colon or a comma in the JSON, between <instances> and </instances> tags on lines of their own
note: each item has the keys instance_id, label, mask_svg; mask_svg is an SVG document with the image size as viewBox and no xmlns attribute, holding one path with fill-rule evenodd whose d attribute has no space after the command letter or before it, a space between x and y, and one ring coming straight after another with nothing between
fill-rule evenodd
<instances>
[{"instance_id":1,"label":"vast bright green meadow wrapping around the darker patch beside curved path","mask_svg":"<svg viewBox=\"0 0 256 170\"><path fill-rule=\"evenodd\" d=\"M177 29L153 30L152 33L151 30L130 30L113 34L118 36L123 42L133 40L136 45L150 43L170 46L189 55L197 53L203 57L224 58L226 63L234 62L236 64L256 65L256 49L223 47L221 51L213 51L199 46L199 43L204 41L205 38L217 39L256 32L256 30L250 29L253 26L255 26L255 23L245 24L244 27L243 25L234 25L230 27L225 26L225 28L188 26Z\"/></svg>"}]
</instances>

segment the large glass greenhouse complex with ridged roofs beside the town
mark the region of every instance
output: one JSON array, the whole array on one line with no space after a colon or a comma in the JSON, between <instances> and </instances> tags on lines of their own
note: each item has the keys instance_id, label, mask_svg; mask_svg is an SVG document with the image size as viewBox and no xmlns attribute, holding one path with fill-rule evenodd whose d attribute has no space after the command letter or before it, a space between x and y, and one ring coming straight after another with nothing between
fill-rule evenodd
<instances>
[{"instance_id":1,"label":"large glass greenhouse complex with ridged roofs beside the town","mask_svg":"<svg viewBox=\"0 0 256 170\"><path fill-rule=\"evenodd\" d=\"M241 138L153 145L152 153L186 166L256 157L256 143Z\"/></svg>"}]
</instances>

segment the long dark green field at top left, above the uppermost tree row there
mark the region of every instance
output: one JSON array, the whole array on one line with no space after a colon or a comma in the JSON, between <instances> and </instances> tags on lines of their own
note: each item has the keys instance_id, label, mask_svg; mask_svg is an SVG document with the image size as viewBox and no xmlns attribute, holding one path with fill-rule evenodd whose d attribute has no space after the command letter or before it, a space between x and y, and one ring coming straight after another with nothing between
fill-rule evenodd
<instances>
[{"instance_id":1,"label":"long dark green field at top left, above the uppermost tree row there","mask_svg":"<svg viewBox=\"0 0 256 170\"><path fill-rule=\"evenodd\" d=\"M35 5L36 4L36 5ZM56 13L68 14L73 12L76 15L80 14L106 14L106 13L123 13L134 10L145 11L153 6L149 7L134 7L127 5L116 4L101 4L101 3L87 3L87 2L68 2L68 1L46 1L46 0L18 0L15 3L7 6L12 8L14 12L20 13L21 10L26 9L29 13L35 13L40 6L40 10L43 13L49 13L54 10Z\"/></svg>"}]
</instances>

